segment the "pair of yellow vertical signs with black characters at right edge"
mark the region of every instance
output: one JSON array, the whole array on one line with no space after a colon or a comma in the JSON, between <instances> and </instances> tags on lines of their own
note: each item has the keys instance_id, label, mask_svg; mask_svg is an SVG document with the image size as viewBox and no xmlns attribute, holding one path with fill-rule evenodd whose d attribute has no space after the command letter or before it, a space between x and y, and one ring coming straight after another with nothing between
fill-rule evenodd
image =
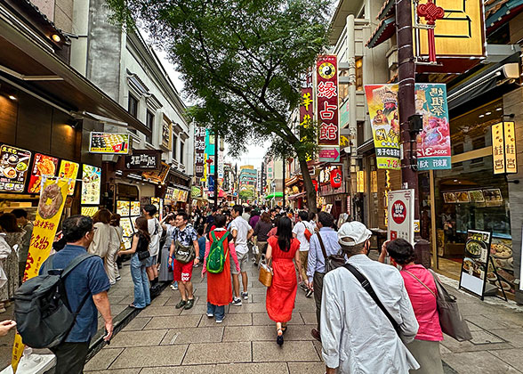
<instances>
[{"instance_id":1,"label":"pair of yellow vertical signs with black characters at right edge","mask_svg":"<svg viewBox=\"0 0 523 374\"><path fill-rule=\"evenodd\" d=\"M492 126L492 159L494 174L518 173L514 122L500 122Z\"/></svg>"}]
</instances>

